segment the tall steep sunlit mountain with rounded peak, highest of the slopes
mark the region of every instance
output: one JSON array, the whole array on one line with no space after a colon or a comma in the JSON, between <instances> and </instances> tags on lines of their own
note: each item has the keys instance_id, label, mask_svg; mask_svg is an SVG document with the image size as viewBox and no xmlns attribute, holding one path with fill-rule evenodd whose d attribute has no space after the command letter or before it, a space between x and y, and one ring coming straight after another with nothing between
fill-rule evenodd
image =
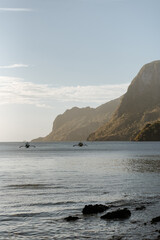
<instances>
[{"instance_id":1,"label":"tall steep sunlit mountain with rounded peak, highest of the slopes","mask_svg":"<svg viewBox=\"0 0 160 240\"><path fill-rule=\"evenodd\" d=\"M148 122L160 119L160 61L144 65L108 123L89 135L89 141L128 141Z\"/></svg>"}]
</instances>

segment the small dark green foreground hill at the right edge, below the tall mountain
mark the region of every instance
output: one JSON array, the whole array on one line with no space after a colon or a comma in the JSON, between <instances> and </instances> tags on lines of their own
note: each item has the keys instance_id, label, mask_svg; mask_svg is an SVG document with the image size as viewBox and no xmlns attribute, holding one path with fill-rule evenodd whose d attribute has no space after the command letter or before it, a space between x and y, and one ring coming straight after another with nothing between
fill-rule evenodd
<instances>
[{"instance_id":1,"label":"small dark green foreground hill at the right edge, below the tall mountain","mask_svg":"<svg viewBox=\"0 0 160 240\"><path fill-rule=\"evenodd\" d=\"M134 141L160 141L160 121L146 124Z\"/></svg>"}]
</instances>

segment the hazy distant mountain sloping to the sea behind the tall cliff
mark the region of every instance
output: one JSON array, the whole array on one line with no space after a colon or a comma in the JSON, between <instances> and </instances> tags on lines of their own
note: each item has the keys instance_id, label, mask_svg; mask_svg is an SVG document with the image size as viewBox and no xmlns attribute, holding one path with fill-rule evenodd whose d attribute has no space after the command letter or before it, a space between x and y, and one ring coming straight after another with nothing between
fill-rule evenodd
<instances>
[{"instance_id":1,"label":"hazy distant mountain sloping to the sea behind the tall cliff","mask_svg":"<svg viewBox=\"0 0 160 240\"><path fill-rule=\"evenodd\" d=\"M49 135L32 141L85 141L90 133L109 121L120 100L121 98L117 98L97 108L74 107L66 110L56 117Z\"/></svg>"}]
</instances>

